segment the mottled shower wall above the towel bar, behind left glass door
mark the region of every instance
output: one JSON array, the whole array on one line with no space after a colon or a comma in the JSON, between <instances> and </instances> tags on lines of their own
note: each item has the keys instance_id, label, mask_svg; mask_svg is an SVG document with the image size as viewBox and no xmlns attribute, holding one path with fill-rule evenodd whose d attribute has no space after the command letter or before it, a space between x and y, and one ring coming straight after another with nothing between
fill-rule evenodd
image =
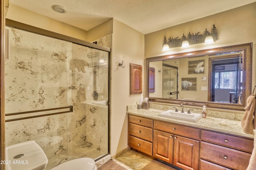
<instances>
[{"instance_id":1,"label":"mottled shower wall above the towel bar, behind left glass door","mask_svg":"<svg viewBox=\"0 0 256 170\"><path fill-rule=\"evenodd\" d=\"M66 67L72 43L38 36L10 29L10 59L5 61L6 113L71 105L65 92L70 88Z\"/></svg>"}]
</instances>

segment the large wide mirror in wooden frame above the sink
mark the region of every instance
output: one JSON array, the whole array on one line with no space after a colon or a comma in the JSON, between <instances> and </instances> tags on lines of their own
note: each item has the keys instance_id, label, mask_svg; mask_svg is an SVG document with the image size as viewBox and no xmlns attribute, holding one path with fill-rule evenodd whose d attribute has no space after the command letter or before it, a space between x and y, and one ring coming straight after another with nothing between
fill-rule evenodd
<instances>
[{"instance_id":1,"label":"large wide mirror in wooden frame above the sink","mask_svg":"<svg viewBox=\"0 0 256 170\"><path fill-rule=\"evenodd\" d=\"M251 89L252 43L146 58L149 101L244 110Z\"/></svg>"}]
</instances>

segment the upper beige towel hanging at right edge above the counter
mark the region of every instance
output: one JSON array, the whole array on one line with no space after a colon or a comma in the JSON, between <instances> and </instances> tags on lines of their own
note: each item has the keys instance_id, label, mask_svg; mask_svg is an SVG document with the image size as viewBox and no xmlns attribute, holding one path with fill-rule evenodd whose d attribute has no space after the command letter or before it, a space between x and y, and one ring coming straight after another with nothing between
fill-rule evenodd
<instances>
[{"instance_id":1,"label":"upper beige towel hanging at right edge above the counter","mask_svg":"<svg viewBox=\"0 0 256 170\"><path fill-rule=\"evenodd\" d=\"M246 107L244 117L242 119L242 128L245 133L254 134L253 129L255 129L256 119L255 116L255 95L250 95L246 100Z\"/></svg>"}]
</instances>

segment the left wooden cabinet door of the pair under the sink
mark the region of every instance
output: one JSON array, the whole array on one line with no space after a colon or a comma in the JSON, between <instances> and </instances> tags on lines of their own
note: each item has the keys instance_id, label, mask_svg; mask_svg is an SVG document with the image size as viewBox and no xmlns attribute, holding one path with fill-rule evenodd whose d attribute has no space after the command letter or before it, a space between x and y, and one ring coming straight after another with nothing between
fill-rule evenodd
<instances>
[{"instance_id":1,"label":"left wooden cabinet door of the pair under the sink","mask_svg":"<svg viewBox=\"0 0 256 170\"><path fill-rule=\"evenodd\" d=\"M153 156L172 164L173 134L154 130Z\"/></svg>"}]
</instances>

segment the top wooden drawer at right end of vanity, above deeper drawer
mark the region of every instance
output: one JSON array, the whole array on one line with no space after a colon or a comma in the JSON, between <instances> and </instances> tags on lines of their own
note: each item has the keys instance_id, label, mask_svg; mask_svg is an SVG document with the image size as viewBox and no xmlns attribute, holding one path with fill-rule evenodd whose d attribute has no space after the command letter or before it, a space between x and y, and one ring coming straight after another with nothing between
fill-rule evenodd
<instances>
[{"instance_id":1,"label":"top wooden drawer at right end of vanity, above deeper drawer","mask_svg":"<svg viewBox=\"0 0 256 170\"><path fill-rule=\"evenodd\" d=\"M202 130L201 140L252 153L253 140Z\"/></svg>"}]
</instances>

